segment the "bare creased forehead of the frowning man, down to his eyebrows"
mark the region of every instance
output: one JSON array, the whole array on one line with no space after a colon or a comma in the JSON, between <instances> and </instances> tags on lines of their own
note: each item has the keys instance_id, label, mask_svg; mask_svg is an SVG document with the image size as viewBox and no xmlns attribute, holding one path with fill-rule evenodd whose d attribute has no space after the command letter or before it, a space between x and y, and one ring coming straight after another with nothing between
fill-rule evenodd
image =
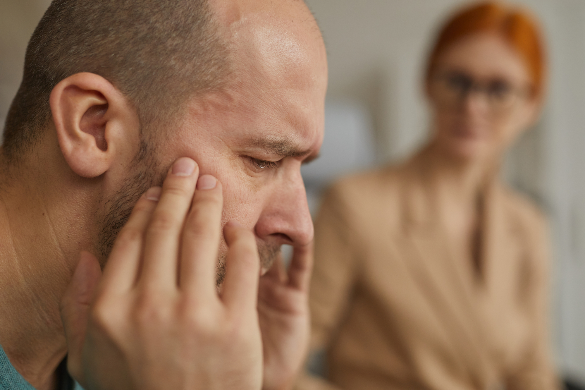
<instances>
[{"instance_id":1,"label":"bare creased forehead of the frowning man, down to his eyebrows","mask_svg":"<svg viewBox=\"0 0 585 390\"><path fill-rule=\"evenodd\" d=\"M215 110L224 134L239 146L283 157L316 153L326 53L307 6L298 0L217 0L215 6L234 66Z\"/></svg>"}]
</instances>

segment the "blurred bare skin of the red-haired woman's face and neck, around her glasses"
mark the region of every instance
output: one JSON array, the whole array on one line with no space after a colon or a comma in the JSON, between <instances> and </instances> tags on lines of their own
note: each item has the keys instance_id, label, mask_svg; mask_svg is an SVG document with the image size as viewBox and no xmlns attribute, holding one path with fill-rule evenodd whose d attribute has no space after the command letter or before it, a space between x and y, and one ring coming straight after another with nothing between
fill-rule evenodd
<instances>
[{"instance_id":1,"label":"blurred bare skin of the red-haired woman's face and neck, around her glasses","mask_svg":"<svg viewBox=\"0 0 585 390\"><path fill-rule=\"evenodd\" d=\"M505 40L482 33L454 43L439 58L439 71L463 71L474 80L530 84L524 61ZM439 194L441 213L453 244L474 253L479 234L481 191L498 173L505 150L534 124L542 97L525 95L503 112L490 111L486 99L470 94L461 104L439 103L432 81L426 85L433 112L432 138L425 150L429 183Z\"/></svg>"}]
</instances>

